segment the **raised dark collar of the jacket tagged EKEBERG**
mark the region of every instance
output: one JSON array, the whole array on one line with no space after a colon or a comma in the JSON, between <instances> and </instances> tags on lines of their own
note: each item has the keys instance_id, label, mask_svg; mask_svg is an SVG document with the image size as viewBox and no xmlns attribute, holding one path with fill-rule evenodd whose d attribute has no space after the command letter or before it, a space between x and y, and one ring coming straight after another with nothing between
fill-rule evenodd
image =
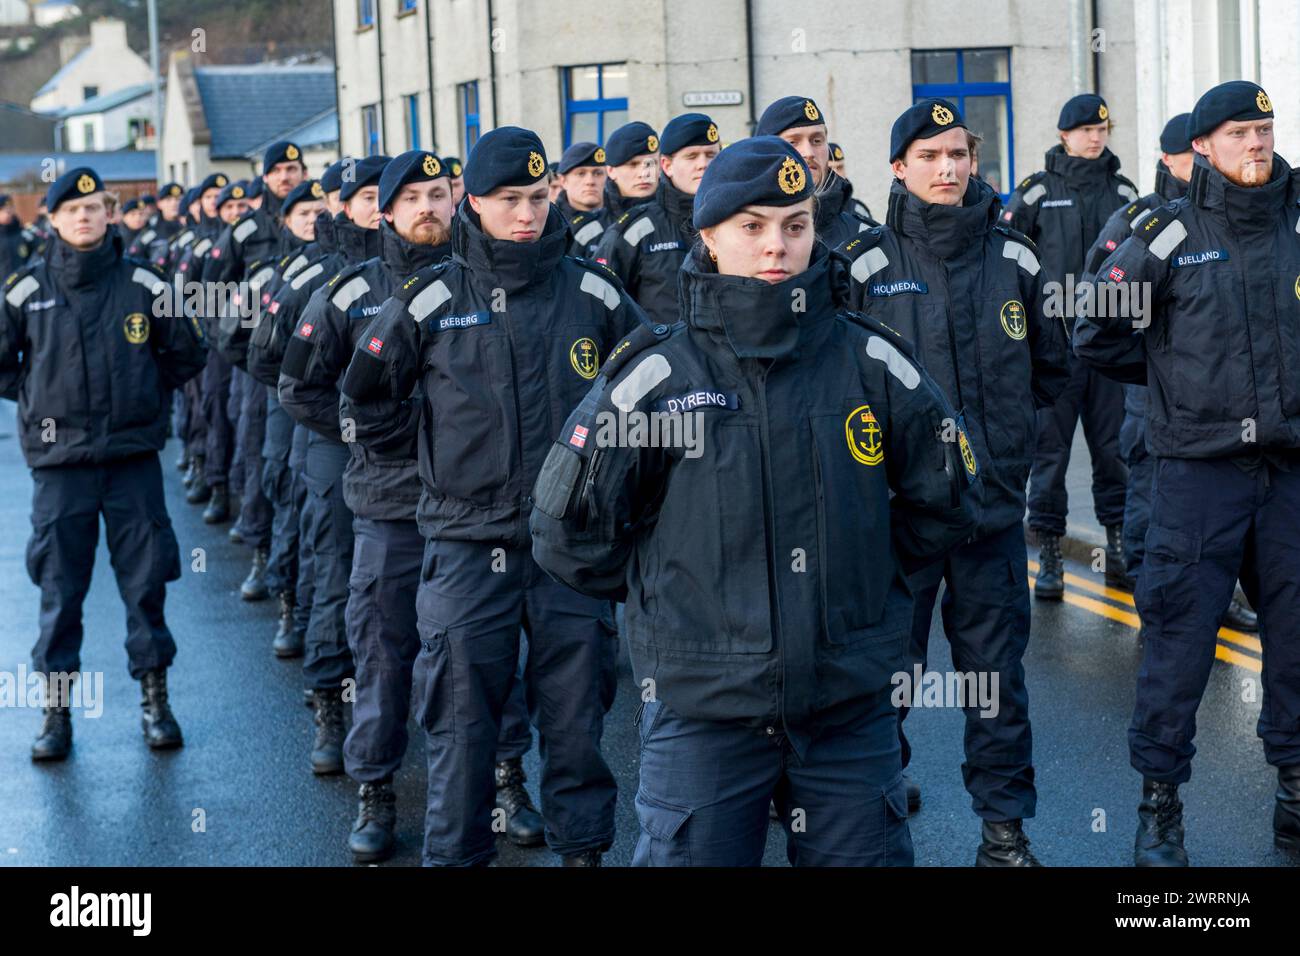
<instances>
[{"instance_id":1,"label":"raised dark collar of the jacket tagged EKEBERG","mask_svg":"<svg viewBox=\"0 0 1300 956\"><path fill-rule=\"evenodd\" d=\"M494 239L482 230L478 213L468 199L460 202L451 221L451 250L463 263L480 290L504 289L516 293L543 281L559 265L569 243L568 222L554 203L546 226L534 242Z\"/></svg>"}]
</instances>

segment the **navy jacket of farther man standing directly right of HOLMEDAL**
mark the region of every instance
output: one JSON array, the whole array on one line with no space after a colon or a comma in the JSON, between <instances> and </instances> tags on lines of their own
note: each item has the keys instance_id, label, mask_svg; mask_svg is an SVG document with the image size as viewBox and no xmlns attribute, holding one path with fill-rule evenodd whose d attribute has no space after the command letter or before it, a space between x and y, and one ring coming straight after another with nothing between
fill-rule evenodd
<instances>
[{"instance_id":1,"label":"navy jacket of farther man standing directly right of HOLMEDAL","mask_svg":"<svg viewBox=\"0 0 1300 956\"><path fill-rule=\"evenodd\" d=\"M1082 276L1110 213L1135 199L1138 187L1119 174L1119 157L1109 148L1088 160L1067 156L1058 144L1048 150L1046 169L1017 186L1002 221L1034 239L1048 281L1065 282Z\"/></svg>"}]
</instances>

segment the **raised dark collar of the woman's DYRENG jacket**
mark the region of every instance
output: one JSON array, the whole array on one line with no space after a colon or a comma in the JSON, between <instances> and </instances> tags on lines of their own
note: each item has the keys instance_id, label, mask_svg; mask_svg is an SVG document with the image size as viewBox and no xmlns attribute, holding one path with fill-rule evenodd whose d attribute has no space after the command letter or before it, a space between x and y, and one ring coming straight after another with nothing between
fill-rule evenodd
<instances>
[{"instance_id":1,"label":"raised dark collar of the woman's DYRENG jacket","mask_svg":"<svg viewBox=\"0 0 1300 956\"><path fill-rule=\"evenodd\" d=\"M686 323L738 359L796 359L829 334L836 307L831 254L815 243L809 268L775 285L720 276L697 242L677 277ZM793 308L796 290L803 308Z\"/></svg>"}]
</instances>

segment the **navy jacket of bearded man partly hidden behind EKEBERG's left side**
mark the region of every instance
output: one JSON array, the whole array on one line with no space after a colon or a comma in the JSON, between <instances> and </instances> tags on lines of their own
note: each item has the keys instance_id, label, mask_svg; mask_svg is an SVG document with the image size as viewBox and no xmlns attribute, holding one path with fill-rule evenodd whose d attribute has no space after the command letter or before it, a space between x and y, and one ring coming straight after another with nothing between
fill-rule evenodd
<instances>
[{"instance_id":1,"label":"navy jacket of bearded man partly hidden behind EKEBERG's left side","mask_svg":"<svg viewBox=\"0 0 1300 956\"><path fill-rule=\"evenodd\" d=\"M447 246L416 246L387 222L378 228L380 255L344 268L312 295L285 349L280 403L317 434L346 441L343 499L352 514L376 520L411 518L420 497L415 467L391 467L354 441L354 427L339 419L339 381L358 339L407 276L441 261Z\"/></svg>"}]
</instances>

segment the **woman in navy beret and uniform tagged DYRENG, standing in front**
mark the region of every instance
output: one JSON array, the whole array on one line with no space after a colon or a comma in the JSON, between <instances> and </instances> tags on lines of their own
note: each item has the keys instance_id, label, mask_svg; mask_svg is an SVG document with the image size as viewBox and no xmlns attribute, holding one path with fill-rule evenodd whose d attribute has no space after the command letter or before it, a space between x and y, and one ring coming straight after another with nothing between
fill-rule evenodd
<instances>
[{"instance_id":1,"label":"woman in navy beret and uniform tagged DYRENG, standing in front","mask_svg":"<svg viewBox=\"0 0 1300 956\"><path fill-rule=\"evenodd\" d=\"M913 862L904 575L970 533L967 477L904 341L837 308L812 193L776 137L723 150L685 321L611 352L533 494L537 562L627 602L638 865L758 865L770 800L796 865Z\"/></svg>"}]
</instances>

